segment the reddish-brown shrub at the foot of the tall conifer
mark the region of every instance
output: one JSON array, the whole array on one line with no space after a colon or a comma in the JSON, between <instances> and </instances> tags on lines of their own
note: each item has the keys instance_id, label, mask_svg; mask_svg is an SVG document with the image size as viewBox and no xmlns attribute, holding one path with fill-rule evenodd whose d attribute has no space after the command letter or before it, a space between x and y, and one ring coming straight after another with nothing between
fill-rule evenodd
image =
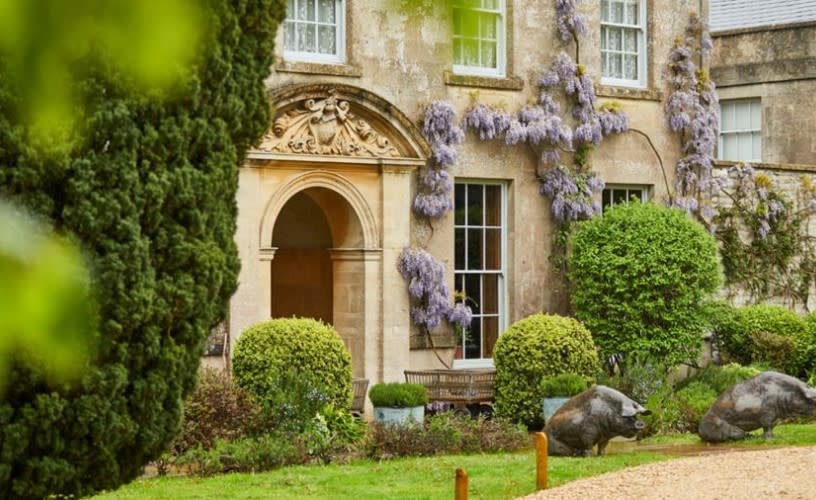
<instances>
[{"instance_id":1,"label":"reddish-brown shrub at the foot of the tall conifer","mask_svg":"<svg viewBox=\"0 0 816 500\"><path fill-rule=\"evenodd\" d=\"M229 442L251 435L261 426L261 409L221 370L203 369L195 391L184 402L181 433L173 442L176 453L217 440Z\"/></svg>"}]
</instances>

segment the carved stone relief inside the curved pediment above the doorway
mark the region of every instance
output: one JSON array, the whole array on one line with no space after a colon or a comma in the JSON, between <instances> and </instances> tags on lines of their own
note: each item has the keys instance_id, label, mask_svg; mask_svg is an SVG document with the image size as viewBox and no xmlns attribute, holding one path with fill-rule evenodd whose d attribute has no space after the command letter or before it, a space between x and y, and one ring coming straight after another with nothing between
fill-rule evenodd
<instances>
[{"instance_id":1,"label":"carved stone relief inside the curved pediment above the doorway","mask_svg":"<svg viewBox=\"0 0 816 500\"><path fill-rule=\"evenodd\" d=\"M398 157L400 152L354 116L348 101L330 90L323 100L309 99L275 119L259 151L317 155Z\"/></svg>"}]
</instances>

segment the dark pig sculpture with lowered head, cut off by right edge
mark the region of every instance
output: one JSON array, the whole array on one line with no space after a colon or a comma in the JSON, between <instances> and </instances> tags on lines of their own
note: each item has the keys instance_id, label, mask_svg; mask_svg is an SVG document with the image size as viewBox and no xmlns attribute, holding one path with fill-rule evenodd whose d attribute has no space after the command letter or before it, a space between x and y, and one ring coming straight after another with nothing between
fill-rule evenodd
<instances>
[{"instance_id":1,"label":"dark pig sculpture with lowered head, cut off by right edge","mask_svg":"<svg viewBox=\"0 0 816 500\"><path fill-rule=\"evenodd\" d=\"M743 439L760 427L773 437L777 420L813 415L816 389L777 372L763 372L741 382L717 398L700 420L697 433L709 443Z\"/></svg>"}]
</instances>

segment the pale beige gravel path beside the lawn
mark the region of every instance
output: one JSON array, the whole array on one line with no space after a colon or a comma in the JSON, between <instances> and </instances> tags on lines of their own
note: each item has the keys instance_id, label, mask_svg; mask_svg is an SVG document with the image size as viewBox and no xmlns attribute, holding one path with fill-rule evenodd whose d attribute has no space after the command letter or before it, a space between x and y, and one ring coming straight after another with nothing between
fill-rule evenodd
<instances>
[{"instance_id":1,"label":"pale beige gravel path beside the lawn","mask_svg":"<svg viewBox=\"0 0 816 500\"><path fill-rule=\"evenodd\" d=\"M816 499L816 447L680 458L581 479L532 499Z\"/></svg>"}]
</instances>

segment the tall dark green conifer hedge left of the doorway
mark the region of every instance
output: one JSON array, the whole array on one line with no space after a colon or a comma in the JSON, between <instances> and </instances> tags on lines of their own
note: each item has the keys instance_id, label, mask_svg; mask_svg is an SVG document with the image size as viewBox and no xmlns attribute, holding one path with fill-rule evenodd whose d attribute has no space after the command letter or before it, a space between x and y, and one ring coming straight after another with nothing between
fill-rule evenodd
<instances>
[{"instance_id":1,"label":"tall dark green conifer hedge left of the doorway","mask_svg":"<svg viewBox=\"0 0 816 500\"><path fill-rule=\"evenodd\" d=\"M179 430L208 332L236 287L237 166L268 125L280 0L206 0L203 49L160 99L89 56L81 135L31 147L0 59L0 196L85 251L99 345L80 383L13 361L0 402L0 497L87 495L141 473Z\"/></svg>"}]
</instances>

